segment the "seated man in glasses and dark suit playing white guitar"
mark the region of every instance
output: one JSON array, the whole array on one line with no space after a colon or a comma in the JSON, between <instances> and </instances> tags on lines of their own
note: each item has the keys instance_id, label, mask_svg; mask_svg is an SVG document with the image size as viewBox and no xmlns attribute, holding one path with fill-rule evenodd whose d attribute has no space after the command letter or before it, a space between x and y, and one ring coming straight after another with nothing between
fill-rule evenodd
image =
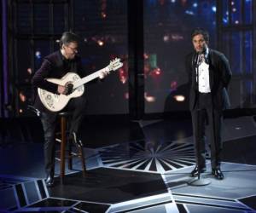
<instances>
[{"instance_id":1,"label":"seated man in glasses and dark suit playing white guitar","mask_svg":"<svg viewBox=\"0 0 256 213\"><path fill-rule=\"evenodd\" d=\"M45 78L62 78L67 72L77 72L81 78L86 76L82 69L81 59L78 55L79 37L73 32L64 32L60 40L60 49L44 58L42 66L32 78L32 86L48 90L51 93L69 95L72 88L50 83ZM102 72L104 78L107 72ZM84 93L85 94L85 93ZM37 93L35 92L35 95ZM79 140L79 126L84 118L85 95L71 99L67 107L73 111L70 133L76 145L83 146ZM50 112L44 107L38 95L35 97L34 107L39 110L44 128L44 167L46 172L46 186L54 185L55 174L55 124L57 112Z\"/></svg>"}]
</instances>

